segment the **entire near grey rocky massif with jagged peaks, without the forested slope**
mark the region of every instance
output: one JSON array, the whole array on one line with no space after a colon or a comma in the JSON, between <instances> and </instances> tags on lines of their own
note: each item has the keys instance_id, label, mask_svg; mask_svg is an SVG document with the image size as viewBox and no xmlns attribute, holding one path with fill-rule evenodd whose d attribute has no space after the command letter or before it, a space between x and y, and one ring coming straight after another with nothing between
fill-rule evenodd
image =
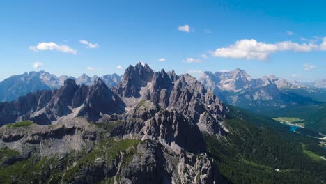
<instances>
[{"instance_id":1,"label":"entire near grey rocky massif with jagged peaks, without the forested slope","mask_svg":"<svg viewBox=\"0 0 326 184\"><path fill-rule=\"evenodd\" d=\"M38 178L17 174L3 179L14 183L25 176L31 183L224 183L206 154L203 134L226 135L227 111L194 77L154 72L141 63L128 67L114 89L102 79L93 86L66 79L61 89L0 103L2 124L21 120L52 124L20 128L15 123L0 128L0 148L20 151L25 162L38 165L33 173ZM12 160L11 164L18 161ZM47 165L52 169L45 169Z\"/></svg>"}]
</instances>

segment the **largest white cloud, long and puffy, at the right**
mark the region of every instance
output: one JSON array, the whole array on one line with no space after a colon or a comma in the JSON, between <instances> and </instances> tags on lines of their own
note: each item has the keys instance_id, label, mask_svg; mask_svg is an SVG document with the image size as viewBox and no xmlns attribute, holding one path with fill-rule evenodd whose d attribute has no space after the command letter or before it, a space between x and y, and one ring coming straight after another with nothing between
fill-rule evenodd
<instances>
[{"instance_id":1,"label":"largest white cloud, long and puffy, at the right","mask_svg":"<svg viewBox=\"0 0 326 184\"><path fill-rule=\"evenodd\" d=\"M233 45L222 47L212 52L212 56L234 58L234 59L256 59L265 61L270 54L280 51L295 51L295 52L310 52L312 50L319 50L324 47L326 50L326 39L321 45L313 43L293 43L291 41L284 41L275 44L257 42L256 40L238 40Z\"/></svg>"}]
</instances>

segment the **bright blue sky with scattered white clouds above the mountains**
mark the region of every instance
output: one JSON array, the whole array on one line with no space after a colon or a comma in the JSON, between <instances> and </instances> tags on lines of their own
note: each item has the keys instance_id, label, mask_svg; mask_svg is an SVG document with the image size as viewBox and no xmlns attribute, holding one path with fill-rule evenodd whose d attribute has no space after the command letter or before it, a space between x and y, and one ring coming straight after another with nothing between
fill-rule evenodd
<instances>
[{"instance_id":1,"label":"bright blue sky with scattered white clouds above the mountains","mask_svg":"<svg viewBox=\"0 0 326 184\"><path fill-rule=\"evenodd\" d=\"M139 61L153 70L174 69L196 77L205 70L242 68L253 77L322 79L326 78L325 5L323 1L1 1L0 80L31 70L75 77L123 74L124 68Z\"/></svg>"}]
</instances>

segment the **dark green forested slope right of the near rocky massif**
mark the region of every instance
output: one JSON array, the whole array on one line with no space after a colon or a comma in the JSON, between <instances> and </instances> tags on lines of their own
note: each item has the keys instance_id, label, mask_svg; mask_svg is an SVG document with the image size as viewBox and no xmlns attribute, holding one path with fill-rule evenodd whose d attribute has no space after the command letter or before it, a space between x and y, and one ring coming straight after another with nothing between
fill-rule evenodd
<instances>
[{"instance_id":1,"label":"dark green forested slope right of the near rocky massif","mask_svg":"<svg viewBox=\"0 0 326 184\"><path fill-rule=\"evenodd\" d=\"M290 132L263 116L231 107L226 139L205 135L208 151L231 183L326 182L326 151L318 139Z\"/></svg>"}]
</instances>

